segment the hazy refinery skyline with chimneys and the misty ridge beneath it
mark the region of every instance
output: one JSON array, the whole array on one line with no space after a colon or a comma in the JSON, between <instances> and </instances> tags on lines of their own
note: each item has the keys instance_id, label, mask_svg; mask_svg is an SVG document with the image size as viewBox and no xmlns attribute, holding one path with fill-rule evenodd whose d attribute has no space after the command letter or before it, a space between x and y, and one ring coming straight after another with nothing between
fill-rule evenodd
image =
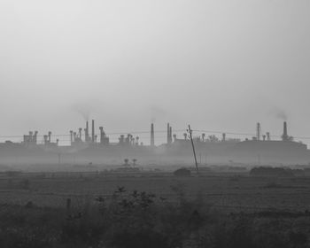
<instances>
[{"instance_id":1,"label":"hazy refinery skyline with chimneys and the misty ridge beneath it","mask_svg":"<svg viewBox=\"0 0 310 248\"><path fill-rule=\"evenodd\" d=\"M91 127L89 127L91 125ZM96 132L97 130L97 132ZM182 136L174 134L167 123L167 142L155 145L155 126L151 123L150 140L142 143L139 136L120 135L118 142L111 142L103 127L96 127L95 120L86 121L84 128L70 130L69 145L59 145L52 132L44 134L38 141L38 132L30 131L21 143L6 141L0 143L0 163L112 163L123 159L138 159L143 163L193 163L192 143L185 131ZM198 135L199 134L199 135ZM198 135L198 136L197 136ZM306 144L295 142L288 134L288 124L283 122L283 135L274 139L270 133L262 133L260 123L256 135L244 140L205 136L194 132L192 142L199 164L242 162L250 164L308 164L310 150Z\"/></svg>"}]
</instances>

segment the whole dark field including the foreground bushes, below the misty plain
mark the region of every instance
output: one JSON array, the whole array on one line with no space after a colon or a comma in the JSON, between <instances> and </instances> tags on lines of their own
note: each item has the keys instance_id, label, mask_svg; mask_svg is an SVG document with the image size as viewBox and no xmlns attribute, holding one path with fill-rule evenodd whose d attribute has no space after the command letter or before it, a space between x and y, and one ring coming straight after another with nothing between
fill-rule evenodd
<instances>
[{"instance_id":1,"label":"whole dark field including the foreground bushes, below the misty plain","mask_svg":"<svg viewBox=\"0 0 310 248\"><path fill-rule=\"evenodd\" d=\"M0 246L306 248L309 182L246 172L6 172Z\"/></svg>"}]
</instances>

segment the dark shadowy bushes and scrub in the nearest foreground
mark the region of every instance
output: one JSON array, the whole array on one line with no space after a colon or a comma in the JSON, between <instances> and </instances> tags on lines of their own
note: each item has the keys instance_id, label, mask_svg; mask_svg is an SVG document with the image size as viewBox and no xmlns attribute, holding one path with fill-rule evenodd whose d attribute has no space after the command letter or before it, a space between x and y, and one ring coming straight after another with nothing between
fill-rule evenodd
<instances>
[{"instance_id":1,"label":"dark shadowy bushes and scrub in the nearest foreground","mask_svg":"<svg viewBox=\"0 0 310 248\"><path fill-rule=\"evenodd\" d=\"M308 247L310 213L221 213L198 194L177 202L119 187L66 209L0 206L1 247Z\"/></svg>"}]
</instances>

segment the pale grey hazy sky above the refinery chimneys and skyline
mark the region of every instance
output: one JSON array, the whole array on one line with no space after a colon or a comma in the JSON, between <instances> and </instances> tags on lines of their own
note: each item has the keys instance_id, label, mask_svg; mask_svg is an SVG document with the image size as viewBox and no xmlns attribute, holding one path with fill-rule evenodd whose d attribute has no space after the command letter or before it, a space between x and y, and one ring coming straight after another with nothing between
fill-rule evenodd
<instances>
[{"instance_id":1,"label":"pale grey hazy sky above the refinery chimneys and skyline","mask_svg":"<svg viewBox=\"0 0 310 248\"><path fill-rule=\"evenodd\" d=\"M255 133L260 121L280 135L287 115L291 135L310 136L309 11L308 0L0 0L0 136L67 134L81 112L107 133L151 120Z\"/></svg>"}]
</instances>

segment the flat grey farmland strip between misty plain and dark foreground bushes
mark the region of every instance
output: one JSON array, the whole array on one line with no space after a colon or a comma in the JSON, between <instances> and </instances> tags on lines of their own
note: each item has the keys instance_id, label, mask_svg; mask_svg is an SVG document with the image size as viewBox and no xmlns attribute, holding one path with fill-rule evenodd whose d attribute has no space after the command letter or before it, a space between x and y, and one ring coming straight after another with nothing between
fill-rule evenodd
<instances>
[{"instance_id":1,"label":"flat grey farmland strip between misty plain and dark foreground bushes","mask_svg":"<svg viewBox=\"0 0 310 248\"><path fill-rule=\"evenodd\" d=\"M111 198L118 187L156 194L167 201L203 198L228 212L305 211L310 208L310 177L252 177L247 174L204 174L175 177L169 173L23 173L0 177L0 205L65 207L66 199L82 206L97 197Z\"/></svg>"}]
</instances>

